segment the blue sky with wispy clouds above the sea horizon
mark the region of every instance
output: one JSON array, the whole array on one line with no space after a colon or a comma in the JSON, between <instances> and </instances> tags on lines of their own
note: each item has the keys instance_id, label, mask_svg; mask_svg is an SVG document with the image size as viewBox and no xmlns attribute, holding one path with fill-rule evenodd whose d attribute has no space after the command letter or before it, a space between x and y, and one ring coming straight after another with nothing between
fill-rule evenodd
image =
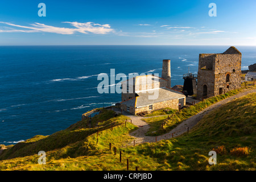
<instances>
[{"instance_id":1,"label":"blue sky with wispy clouds above the sea horizon","mask_svg":"<svg viewBox=\"0 0 256 182\"><path fill-rule=\"evenodd\" d=\"M46 17L38 4L46 4ZM210 3L217 16L210 17ZM256 46L256 1L1 0L0 45Z\"/></svg>"}]
</instances>

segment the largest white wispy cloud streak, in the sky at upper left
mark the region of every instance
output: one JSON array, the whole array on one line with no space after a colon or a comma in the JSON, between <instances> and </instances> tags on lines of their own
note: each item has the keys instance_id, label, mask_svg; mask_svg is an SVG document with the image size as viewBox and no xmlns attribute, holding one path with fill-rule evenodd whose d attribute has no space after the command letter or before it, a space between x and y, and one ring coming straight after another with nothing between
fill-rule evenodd
<instances>
[{"instance_id":1,"label":"largest white wispy cloud streak, in the sky at upper left","mask_svg":"<svg viewBox=\"0 0 256 182\"><path fill-rule=\"evenodd\" d=\"M79 23L79 22L63 22L69 23L73 27L76 28L65 28L65 27L55 27L55 26L48 26L42 23L34 23L30 24L30 26L20 26L19 24L13 24L8 22L0 22L1 24L6 24L11 27L18 27L22 29L14 29L10 27L3 27L0 29L0 32L49 32L55 34L75 34L75 32L80 32L82 34L108 34L109 32L114 32L112 28L110 28L109 24L97 24L93 22L86 22L86 23Z\"/></svg>"}]
</instances>

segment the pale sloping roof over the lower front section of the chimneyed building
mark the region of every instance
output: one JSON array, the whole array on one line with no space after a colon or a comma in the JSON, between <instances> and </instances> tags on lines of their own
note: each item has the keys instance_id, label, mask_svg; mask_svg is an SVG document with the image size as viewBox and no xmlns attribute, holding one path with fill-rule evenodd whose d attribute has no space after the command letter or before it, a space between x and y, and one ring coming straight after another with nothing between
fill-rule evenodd
<instances>
[{"instance_id":1,"label":"pale sloping roof over the lower front section of the chimneyed building","mask_svg":"<svg viewBox=\"0 0 256 182\"><path fill-rule=\"evenodd\" d=\"M155 92L158 91L158 97L156 97L155 99L153 97L155 94L155 92L153 93L153 90L155 90ZM147 90L145 92L137 92L137 94L139 95L139 97L134 97L130 100L123 101L121 103L127 106L143 107L158 102L169 101L185 97L183 93L173 90L171 88L157 88ZM155 95L157 96L157 94ZM150 97L152 99L150 99Z\"/></svg>"}]
</instances>

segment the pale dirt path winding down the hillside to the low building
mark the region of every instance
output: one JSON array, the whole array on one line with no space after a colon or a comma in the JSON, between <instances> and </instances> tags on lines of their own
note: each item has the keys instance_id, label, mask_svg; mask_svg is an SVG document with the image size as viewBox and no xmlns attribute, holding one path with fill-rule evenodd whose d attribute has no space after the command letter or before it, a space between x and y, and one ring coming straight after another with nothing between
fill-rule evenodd
<instances>
[{"instance_id":1,"label":"pale dirt path winding down the hillside to the low building","mask_svg":"<svg viewBox=\"0 0 256 182\"><path fill-rule=\"evenodd\" d=\"M242 97L242 96L245 96L245 95L247 95L249 93L253 93L253 92L256 92L256 89L247 90L246 92L241 92L241 93L236 94L235 96L231 96L229 98L221 100L221 101L207 107L203 111L200 111L198 114L181 122L177 127L175 127L175 129L171 130L169 133L158 136L157 140L159 141L159 140L163 140L163 139L172 138L172 133L174 133L174 137L177 137L177 136L187 132L188 127L189 127L189 130L192 129L192 127L195 126L196 123L199 122L204 117L204 115L208 114L210 111L217 109L222 104L226 104L226 103L232 101L234 98ZM123 112L123 115L127 115L128 117L130 117L133 124L136 126L139 126L138 130L130 133L130 136L134 137L135 142L137 144L144 143L144 142L155 142L155 137L145 135L147 133L147 130L150 128L150 125L148 125L148 123L142 121L142 119L144 119L144 118L151 118L151 117L139 117L139 116L131 115L126 112ZM162 116L162 115L159 115L159 116Z\"/></svg>"}]
</instances>

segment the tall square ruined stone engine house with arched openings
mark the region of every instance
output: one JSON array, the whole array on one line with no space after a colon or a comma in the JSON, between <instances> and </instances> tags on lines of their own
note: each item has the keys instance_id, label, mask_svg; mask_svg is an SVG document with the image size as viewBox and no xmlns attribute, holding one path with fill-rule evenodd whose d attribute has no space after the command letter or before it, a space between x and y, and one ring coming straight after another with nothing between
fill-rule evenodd
<instances>
[{"instance_id":1,"label":"tall square ruined stone engine house with arched openings","mask_svg":"<svg viewBox=\"0 0 256 182\"><path fill-rule=\"evenodd\" d=\"M224 53L201 53L197 72L197 99L240 88L241 58L241 52L235 47L230 47Z\"/></svg>"}]
</instances>

